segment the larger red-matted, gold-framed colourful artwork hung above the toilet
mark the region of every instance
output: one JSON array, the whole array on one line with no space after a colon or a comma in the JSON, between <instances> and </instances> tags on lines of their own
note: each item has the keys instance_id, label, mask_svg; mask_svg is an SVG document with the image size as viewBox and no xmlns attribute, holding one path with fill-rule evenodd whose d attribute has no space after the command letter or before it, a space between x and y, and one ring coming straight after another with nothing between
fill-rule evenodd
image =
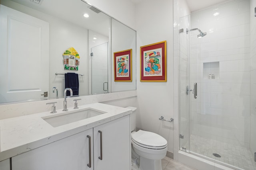
<instances>
[{"instance_id":1,"label":"larger red-matted, gold-framed colourful artwork hung above the toilet","mask_svg":"<svg viewBox=\"0 0 256 170\"><path fill-rule=\"evenodd\" d=\"M166 41L140 47L140 81L167 81Z\"/></svg>"}]
</instances>

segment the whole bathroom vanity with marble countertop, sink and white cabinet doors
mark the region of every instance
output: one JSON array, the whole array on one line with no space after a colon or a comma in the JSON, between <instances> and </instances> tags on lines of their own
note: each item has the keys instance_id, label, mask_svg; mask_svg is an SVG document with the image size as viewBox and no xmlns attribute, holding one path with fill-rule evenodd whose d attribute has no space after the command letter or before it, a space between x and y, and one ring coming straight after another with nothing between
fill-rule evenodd
<instances>
[{"instance_id":1,"label":"whole bathroom vanity with marble countertop, sink and white cabinet doors","mask_svg":"<svg viewBox=\"0 0 256 170\"><path fill-rule=\"evenodd\" d=\"M0 170L130 169L132 110L68 109L0 120Z\"/></svg>"}]
</instances>

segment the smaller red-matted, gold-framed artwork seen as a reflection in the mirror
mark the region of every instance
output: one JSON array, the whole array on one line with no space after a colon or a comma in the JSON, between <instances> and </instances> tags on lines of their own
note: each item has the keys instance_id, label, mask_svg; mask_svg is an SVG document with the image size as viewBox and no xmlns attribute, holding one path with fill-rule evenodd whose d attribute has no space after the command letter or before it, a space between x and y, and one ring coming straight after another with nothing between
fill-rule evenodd
<instances>
[{"instance_id":1,"label":"smaller red-matted, gold-framed artwork seen as a reflection in the mirror","mask_svg":"<svg viewBox=\"0 0 256 170\"><path fill-rule=\"evenodd\" d=\"M132 81L132 49L114 53L114 81Z\"/></svg>"}]
</instances>

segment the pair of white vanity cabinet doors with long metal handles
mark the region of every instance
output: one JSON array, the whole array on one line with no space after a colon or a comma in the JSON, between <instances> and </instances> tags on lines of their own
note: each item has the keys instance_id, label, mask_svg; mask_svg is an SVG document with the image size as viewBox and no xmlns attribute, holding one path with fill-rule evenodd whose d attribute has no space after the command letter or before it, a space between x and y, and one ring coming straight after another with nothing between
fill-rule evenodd
<instances>
[{"instance_id":1,"label":"pair of white vanity cabinet doors with long metal handles","mask_svg":"<svg viewBox=\"0 0 256 170\"><path fill-rule=\"evenodd\" d=\"M130 116L14 156L12 170L130 170Z\"/></svg>"}]
</instances>

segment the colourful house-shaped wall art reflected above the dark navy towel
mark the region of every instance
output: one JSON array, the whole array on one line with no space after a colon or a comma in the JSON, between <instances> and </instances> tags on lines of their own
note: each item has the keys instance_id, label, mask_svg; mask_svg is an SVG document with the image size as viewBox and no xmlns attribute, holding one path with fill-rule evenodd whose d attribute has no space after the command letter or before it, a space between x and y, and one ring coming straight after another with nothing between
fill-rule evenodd
<instances>
[{"instance_id":1,"label":"colourful house-shaped wall art reflected above the dark navy towel","mask_svg":"<svg viewBox=\"0 0 256 170\"><path fill-rule=\"evenodd\" d=\"M67 49L62 56L65 70L78 70L80 56L73 47Z\"/></svg>"}]
</instances>

